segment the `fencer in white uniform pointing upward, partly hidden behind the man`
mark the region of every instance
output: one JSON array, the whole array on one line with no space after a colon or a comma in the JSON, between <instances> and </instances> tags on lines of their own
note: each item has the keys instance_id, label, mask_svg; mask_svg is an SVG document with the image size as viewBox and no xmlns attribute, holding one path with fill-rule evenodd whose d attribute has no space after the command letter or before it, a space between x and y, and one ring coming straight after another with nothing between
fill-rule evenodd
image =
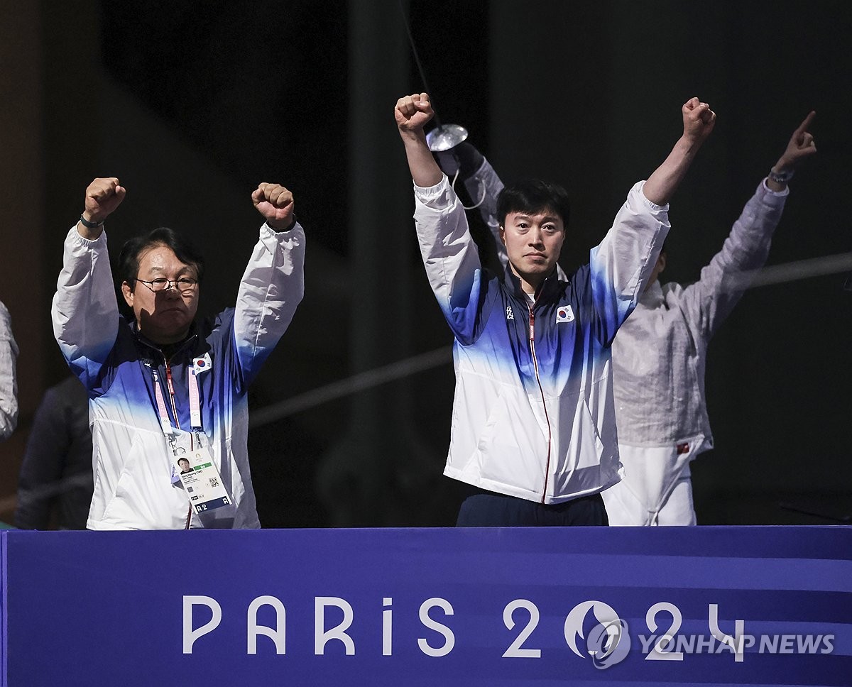
<instances>
[{"instance_id":1,"label":"fencer in white uniform pointing upward, partly hidden behind the man","mask_svg":"<svg viewBox=\"0 0 852 687\"><path fill-rule=\"evenodd\" d=\"M769 255L790 192L787 182L798 163L816 152L808 131L814 117L810 112L793 132L699 280L686 287L661 284L664 246L636 309L615 336L615 411L625 478L602 493L612 525L696 524L689 463L713 448L705 403L707 346L748 287L749 272ZM436 157L478 202L505 263L497 218L503 183L491 164L466 142Z\"/></svg>"}]
</instances>

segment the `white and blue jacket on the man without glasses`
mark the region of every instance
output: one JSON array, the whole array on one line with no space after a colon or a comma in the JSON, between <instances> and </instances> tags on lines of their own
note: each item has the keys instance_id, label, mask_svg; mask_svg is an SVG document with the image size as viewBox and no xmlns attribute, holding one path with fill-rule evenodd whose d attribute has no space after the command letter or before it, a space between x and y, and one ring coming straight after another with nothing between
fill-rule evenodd
<instances>
[{"instance_id":1,"label":"white and blue jacket on the man without glasses","mask_svg":"<svg viewBox=\"0 0 852 687\"><path fill-rule=\"evenodd\" d=\"M618 482L610 346L648 282L668 206L636 184L590 264L567 281L551 275L531 306L510 270L482 268L446 176L414 191L423 264L455 335L444 474L543 503Z\"/></svg>"}]
</instances>

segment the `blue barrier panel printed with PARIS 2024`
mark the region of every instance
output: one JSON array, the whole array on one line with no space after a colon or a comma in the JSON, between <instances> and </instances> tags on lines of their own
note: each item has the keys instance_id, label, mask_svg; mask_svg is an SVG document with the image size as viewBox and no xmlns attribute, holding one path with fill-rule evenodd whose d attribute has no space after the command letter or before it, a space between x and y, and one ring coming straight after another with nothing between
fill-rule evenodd
<instances>
[{"instance_id":1,"label":"blue barrier panel printed with PARIS 2024","mask_svg":"<svg viewBox=\"0 0 852 687\"><path fill-rule=\"evenodd\" d=\"M845 527L0 537L9 687L852 684Z\"/></svg>"}]
</instances>

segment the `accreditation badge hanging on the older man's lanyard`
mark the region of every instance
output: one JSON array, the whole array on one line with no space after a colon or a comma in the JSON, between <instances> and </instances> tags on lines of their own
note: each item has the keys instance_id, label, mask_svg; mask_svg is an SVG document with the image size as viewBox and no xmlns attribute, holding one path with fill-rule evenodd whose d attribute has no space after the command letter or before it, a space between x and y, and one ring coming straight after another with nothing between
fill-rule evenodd
<instances>
[{"instance_id":1,"label":"accreditation badge hanging on the older man's lanyard","mask_svg":"<svg viewBox=\"0 0 852 687\"><path fill-rule=\"evenodd\" d=\"M233 503L222 484L204 432L173 432L172 467L181 479L193 510L201 513Z\"/></svg>"}]
</instances>

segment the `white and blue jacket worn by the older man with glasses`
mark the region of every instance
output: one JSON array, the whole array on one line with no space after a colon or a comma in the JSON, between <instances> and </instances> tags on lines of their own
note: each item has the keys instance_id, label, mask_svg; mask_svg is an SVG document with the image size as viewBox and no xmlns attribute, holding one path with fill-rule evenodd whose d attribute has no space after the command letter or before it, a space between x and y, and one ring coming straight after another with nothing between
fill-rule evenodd
<instances>
[{"instance_id":1,"label":"white and blue jacket worn by the older man with glasses","mask_svg":"<svg viewBox=\"0 0 852 687\"><path fill-rule=\"evenodd\" d=\"M302 300L304 244L298 224L287 232L262 226L236 308L194 323L167 370L158 346L118 315L106 232L89 241L72 227L52 312L62 354L89 392L95 470L89 530L260 527L246 446L246 395ZM233 507L190 518L180 481L171 481L171 450L160 427L152 368L158 369L164 398L171 375L177 420L187 429L188 367L204 354L210 369L198 376L202 422Z\"/></svg>"}]
</instances>

